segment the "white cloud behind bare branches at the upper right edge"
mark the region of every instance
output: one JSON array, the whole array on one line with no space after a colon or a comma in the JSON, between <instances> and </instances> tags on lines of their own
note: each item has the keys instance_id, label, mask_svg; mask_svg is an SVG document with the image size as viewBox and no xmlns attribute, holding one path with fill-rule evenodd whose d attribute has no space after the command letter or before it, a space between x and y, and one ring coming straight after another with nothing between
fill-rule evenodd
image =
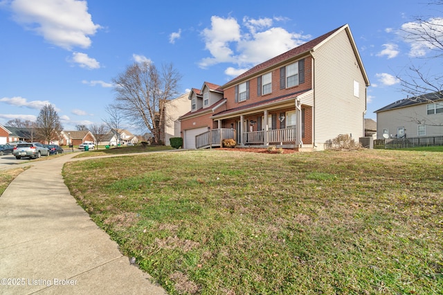
<instances>
[{"instance_id":1,"label":"white cloud behind bare branches at the upper right edge","mask_svg":"<svg viewBox=\"0 0 443 295\"><path fill-rule=\"evenodd\" d=\"M410 44L410 57L424 57L428 51L435 49L435 45L431 42L428 42L425 38L419 37L426 33L430 33L433 35L433 39L441 40L443 39L443 18L435 17L430 18L426 22L420 25L420 23L416 21L410 21L401 26L400 35L404 37L404 41ZM408 35L415 35L417 37L408 38Z\"/></svg>"}]
</instances>

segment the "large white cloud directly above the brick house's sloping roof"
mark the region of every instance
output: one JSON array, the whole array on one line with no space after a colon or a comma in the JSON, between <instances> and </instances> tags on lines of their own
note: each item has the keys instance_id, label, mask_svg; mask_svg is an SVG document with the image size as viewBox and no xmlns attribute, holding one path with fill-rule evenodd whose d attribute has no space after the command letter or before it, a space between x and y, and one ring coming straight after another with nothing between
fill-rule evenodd
<instances>
[{"instance_id":1,"label":"large white cloud directly above the brick house's sloping roof","mask_svg":"<svg viewBox=\"0 0 443 295\"><path fill-rule=\"evenodd\" d=\"M282 17L274 19L244 17L241 26L233 17L211 17L210 28L205 28L201 34L211 56L202 59L199 66L206 68L213 64L228 62L238 65L239 69L235 71L243 71L305 43L311 37L290 33L284 28L273 26L274 21L285 20ZM233 73L233 70L226 69L226 73Z\"/></svg>"}]
</instances>

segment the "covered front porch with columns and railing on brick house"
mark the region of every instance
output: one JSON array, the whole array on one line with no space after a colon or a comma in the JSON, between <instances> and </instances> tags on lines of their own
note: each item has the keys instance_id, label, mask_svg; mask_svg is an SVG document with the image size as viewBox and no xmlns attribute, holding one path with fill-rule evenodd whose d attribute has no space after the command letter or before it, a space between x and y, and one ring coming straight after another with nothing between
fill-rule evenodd
<instances>
[{"instance_id":1,"label":"covered front porch with columns and railing on brick house","mask_svg":"<svg viewBox=\"0 0 443 295\"><path fill-rule=\"evenodd\" d=\"M213 129L196 136L196 147L221 147L232 138L237 147L310 147L312 107L300 100L262 105L256 109L224 111L213 116Z\"/></svg>"}]
</instances>

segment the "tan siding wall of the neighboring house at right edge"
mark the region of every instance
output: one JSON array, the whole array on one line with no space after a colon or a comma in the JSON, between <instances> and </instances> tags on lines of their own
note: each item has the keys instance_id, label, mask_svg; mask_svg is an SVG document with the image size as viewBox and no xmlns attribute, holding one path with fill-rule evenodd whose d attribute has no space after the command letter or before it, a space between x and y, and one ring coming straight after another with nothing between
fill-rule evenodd
<instances>
[{"instance_id":1,"label":"tan siding wall of the neighboring house at right edge","mask_svg":"<svg viewBox=\"0 0 443 295\"><path fill-rule=\"evenodd\" d=\"M404 127L407 137L418 136L418 123L426 123L425 136L442 136L443 113L428 115L426 112L426 103L412 105L410 107L401 107L380 111L377 113L377 138L383 138L383 129L389 130L389 135L395 136L398 127ZM438 126L440 125L440 126Z\"/></svg>"}]
</instances>

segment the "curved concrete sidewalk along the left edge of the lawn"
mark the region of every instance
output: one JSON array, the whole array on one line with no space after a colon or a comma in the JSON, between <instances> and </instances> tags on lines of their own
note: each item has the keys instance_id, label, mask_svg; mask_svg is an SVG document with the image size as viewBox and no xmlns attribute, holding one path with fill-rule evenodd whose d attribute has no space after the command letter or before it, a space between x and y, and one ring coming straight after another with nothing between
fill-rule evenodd
<instances>
[{"instance_id":1,"label":"curved concrete sidewalk along the left edge of the lawn","mask_svg":"<svg viewBox=\"0 0 443 295\"><path fill-rule=\"evenodd\" d=\"M166 294L76 204L73 156L32 163L1 195L0 294Z\"/></svg>"}]
</instances>

